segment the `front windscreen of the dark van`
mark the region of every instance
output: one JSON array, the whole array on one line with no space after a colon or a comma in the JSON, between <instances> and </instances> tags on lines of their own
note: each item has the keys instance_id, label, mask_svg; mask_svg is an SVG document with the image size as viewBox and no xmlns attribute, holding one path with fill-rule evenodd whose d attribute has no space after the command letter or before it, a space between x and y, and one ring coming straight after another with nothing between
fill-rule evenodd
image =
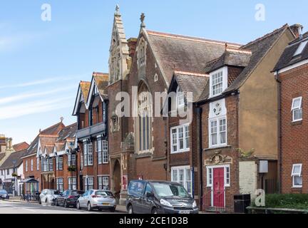
<instances>
[{"instance_id":1,"label":"front windscreen of the dark van","mask_svg":"<svg viewBox=\"0 0 308 228\"><path fill-rule=\"evenodd\" d=\"M153 187L159 197L190 197L188 192L181 185L154 183Z\"/></svg>"}]
</instances>

